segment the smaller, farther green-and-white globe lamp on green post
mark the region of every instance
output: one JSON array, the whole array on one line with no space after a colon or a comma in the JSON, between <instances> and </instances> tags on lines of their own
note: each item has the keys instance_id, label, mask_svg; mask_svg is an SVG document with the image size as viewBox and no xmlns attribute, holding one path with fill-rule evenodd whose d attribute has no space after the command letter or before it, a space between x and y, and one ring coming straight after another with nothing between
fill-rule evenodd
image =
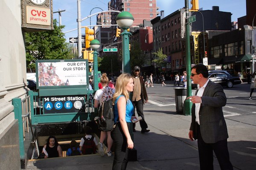
<instances>
[{"instance_id":1,"label":"smaller, farther green-and-white globe lamp on green post","mask_svg":"<svg viewBox=\"0 0 256 170\"><path fill-rule=\"evenodd\" d=\"M98 40L92 40L90 42L90 48L93 49L93 90L97 91L99 89L99 79L98 79L98 52L97 49L100 47L100 42Z\"/></svg>"}]
</instances>

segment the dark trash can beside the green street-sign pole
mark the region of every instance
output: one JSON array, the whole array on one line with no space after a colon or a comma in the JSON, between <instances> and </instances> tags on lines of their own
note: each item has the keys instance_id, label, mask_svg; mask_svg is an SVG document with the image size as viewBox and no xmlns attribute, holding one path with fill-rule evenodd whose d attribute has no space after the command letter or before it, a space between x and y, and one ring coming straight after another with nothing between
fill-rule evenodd
<instances>
[{"instance_id":1,"label":"dark trash can beside the green street-sign pole","mask_svg":"<svg viewBox=\"0 0 256 170\"><path fill-rule=\"evenodd\" d=\"M175 88L175 103L176 103L176 112L183 113L184 101L187 97L186 88Z\"/></svg>"}]
</instances>

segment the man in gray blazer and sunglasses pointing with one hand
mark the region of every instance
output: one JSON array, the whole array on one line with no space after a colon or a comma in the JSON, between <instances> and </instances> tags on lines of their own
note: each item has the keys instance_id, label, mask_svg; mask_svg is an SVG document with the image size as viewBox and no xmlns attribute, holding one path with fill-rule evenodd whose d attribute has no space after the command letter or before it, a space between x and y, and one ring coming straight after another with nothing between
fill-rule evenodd
<instances>
[{"instance_id":1,"label":"man in gray blazer and sunglasses pointing with one hand","mask_svg":"<svg viewBox=\"0 0 256 170\"><path fill-rule=\"evenodd\" d=\"M213 170L213 150L221 170L233 170L227 149L227 125L222 107L227 98L223 88L208 79L205 65L192 67L190 79L198 84L195 96L189 96L192 105L192 123L189 139L198 139L201 170Z\"/></svg>"}]
</instances>

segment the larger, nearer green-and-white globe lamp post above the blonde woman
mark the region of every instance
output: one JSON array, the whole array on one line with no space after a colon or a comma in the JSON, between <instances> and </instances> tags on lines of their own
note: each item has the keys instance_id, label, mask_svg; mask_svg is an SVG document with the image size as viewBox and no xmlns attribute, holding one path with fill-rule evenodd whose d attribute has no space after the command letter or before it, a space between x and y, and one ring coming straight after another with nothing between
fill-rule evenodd
<instances>
[{"instance_id":1,"label":"larger, nearer green-and-white globe lamp post above the blonde woman","mask_svg":"<svg viewBox=\"0 0 256 170\"><path fill-rule=\"evenodd\" d=\"M130 32L127 31L128 28L132 26L134 22L134 17L130 12L123 11L119 13L116 17L116 23L119 27L121 27L124 31L121 33L122 35L122 67L124 73L130 73L130 50L129 50L129 35Z\"/></svg>"}]
</instances>

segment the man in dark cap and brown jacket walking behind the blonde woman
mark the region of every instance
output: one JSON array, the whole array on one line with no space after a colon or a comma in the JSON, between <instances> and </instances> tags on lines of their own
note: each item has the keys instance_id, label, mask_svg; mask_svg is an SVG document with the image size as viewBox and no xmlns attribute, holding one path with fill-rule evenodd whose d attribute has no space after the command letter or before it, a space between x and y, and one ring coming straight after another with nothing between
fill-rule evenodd
<instances>
[{"instance_id":1,"label":"man in dark cap and brown jacket walking behind the blonde woman","mask_svg":"<svg viewBox=\"0 0 256 170\"><path fill-rule=\"evenodd\" d=\"M143 114L143 105L146 102L148 102L148 95L147 95L147 91L146 91L143 79L140 76L139 66L134 67L132 78L134 80L134 90L133 92L131 92L132 104L134 106L134 110L136 107L138 115L142 117L142 119L140 120L141 133L149 132L149 130L147 130L148 125L145 122L144 114ZM135 116L135 111L133 116ZM136 132L135 123L133 123L133 131Z\"/></svg>"}]
</instances>

